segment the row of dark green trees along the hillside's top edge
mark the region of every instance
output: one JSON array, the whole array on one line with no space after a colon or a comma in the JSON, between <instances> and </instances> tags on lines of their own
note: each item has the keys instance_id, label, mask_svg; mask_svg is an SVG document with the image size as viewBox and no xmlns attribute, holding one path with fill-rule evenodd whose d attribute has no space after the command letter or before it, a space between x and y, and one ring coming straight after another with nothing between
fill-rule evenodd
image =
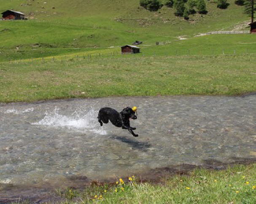
<instances>
[{"instance_id":1,"label":"row of dark green trees along the hillside's top edge","mask_svg":"<svg viewBox=\"0 0 256 204\"><path fill-rule=\"evenodd\" d=\"M256 10L256 6L252 8L255 4L254 0L235 0L235 3L245 5L245 13L252 13L252 10ZM156 11L163 5L173 7L175 16L183 16L185 19L189 19L189 15L196 13L195 9L200 14L208 12L205 0L165 0L165 3L162 3L161 0L140 0L140 5L150 11ZM217 0L217 8L226 9L228 6L227 0Z\"/></svg>"}]
</instances>

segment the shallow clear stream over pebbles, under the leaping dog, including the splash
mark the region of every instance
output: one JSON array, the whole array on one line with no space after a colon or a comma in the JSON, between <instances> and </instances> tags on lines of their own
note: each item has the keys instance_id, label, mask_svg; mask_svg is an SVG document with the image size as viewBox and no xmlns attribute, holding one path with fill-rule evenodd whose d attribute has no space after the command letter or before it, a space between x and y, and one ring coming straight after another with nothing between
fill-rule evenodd
<instances>
[{"instance_id":1,"label":"shallow clear stream over pebbles, under the leaping dog, including the splash","mask_svg":"<svg viewBox=\"0 0 256 204\"><path fill-rule=\"evenodd\" d=\"M133 137L100 107L138 107ZM168 165L256 158L256 96L113 97L0 104L0 183L40 186Z\"/></svg>"}]
</instances>

